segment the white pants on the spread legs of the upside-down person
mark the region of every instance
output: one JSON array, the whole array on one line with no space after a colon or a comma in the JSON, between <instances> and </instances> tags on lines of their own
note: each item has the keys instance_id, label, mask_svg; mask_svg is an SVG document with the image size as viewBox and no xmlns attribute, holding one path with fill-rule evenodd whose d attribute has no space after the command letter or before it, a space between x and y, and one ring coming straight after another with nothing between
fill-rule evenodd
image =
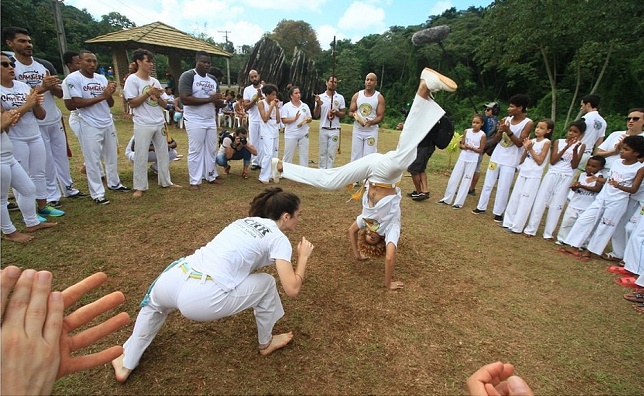
<instances>
[{"instance_id":1,"label":"white pants on the spread legs of the upside-down person","mask_svg":"<svg viewBox=\"0 0 644 396\"><path fill-rule=\"evenodd\" d=\"M432 129L443 114L445 111L436 102L416 95L395 151L373 153L332 169L308 168L284 162L282 176L326 190L337 190L367 178L376 183L400 180L403 172L416 159L416 148L427 135L425 131Z\"/></svg>"}]
</instances>

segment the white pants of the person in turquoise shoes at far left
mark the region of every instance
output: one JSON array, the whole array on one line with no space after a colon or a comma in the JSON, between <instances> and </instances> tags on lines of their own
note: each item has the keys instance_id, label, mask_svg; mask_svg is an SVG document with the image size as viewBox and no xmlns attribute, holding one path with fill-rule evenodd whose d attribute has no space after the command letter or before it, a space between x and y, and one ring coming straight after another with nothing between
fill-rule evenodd
<instances>
[{"instance_id":1,"label":"white pants of the person in turquoise shoes at far left","mask_svg":"<svg viewBox=\"0 0 644 396\"><path fill-rule=\"evenodd\" d=\"M31 140L12 140L13 156L36 186L36 199L47 199L47 182L45 181L46 150L42 136ZM14 189L14 195L20 192Z\"/></svg>"}]
</instances>

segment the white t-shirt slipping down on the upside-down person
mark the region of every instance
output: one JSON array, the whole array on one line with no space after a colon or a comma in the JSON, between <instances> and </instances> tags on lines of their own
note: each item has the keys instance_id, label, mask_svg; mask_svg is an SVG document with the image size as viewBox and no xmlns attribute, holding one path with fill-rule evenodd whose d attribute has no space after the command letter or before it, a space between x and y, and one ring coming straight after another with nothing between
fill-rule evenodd
<instances>
[{"instance_id":1,"label":"white t-shirt slipping down on the upside-down person","mask_svg":"<svg viewBox=\"0 0 644 396\"><path fill-rule=\"evenodd\" d=\"M362 194L362 213L356 218L360 229L368 227L372 232L385 237L385 243L398 246L400 238L400 201L402 194L396 187L396 194L381 198L373 208L369 207L369 183Z\"/></svg>"}]
</instances>

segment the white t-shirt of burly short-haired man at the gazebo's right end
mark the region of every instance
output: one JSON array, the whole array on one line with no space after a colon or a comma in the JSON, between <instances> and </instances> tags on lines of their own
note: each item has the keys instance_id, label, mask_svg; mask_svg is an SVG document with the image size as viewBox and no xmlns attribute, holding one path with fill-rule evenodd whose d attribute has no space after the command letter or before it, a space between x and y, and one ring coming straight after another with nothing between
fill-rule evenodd
<instances>
[{"instance_id":1,"label":"white t-shirt of burly short-haired man at the gazebo's right end","mask_svg":"<svg viewBox=\"0 0 644 396\"><path fill-rule=\"evenodd\" d=\"M191 78L192 86L187 86L189 84L186 81L189 81ZM217 92L217 81L209 74L202 77L195 69L188 70L179 78L179 93L183 93L184 90L190 90L191 96L195 98L209 98ZM216 117L217 111L214 103L196 106L183 104L183 118L194 125L203 127L217 125Z\"/></svg>"}]
</instances>

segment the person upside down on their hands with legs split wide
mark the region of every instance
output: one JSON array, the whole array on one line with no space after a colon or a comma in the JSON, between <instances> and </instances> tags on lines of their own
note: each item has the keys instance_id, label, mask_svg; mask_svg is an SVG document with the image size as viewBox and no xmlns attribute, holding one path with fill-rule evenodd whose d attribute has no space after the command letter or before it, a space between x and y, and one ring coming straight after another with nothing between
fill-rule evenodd
<instances>
[{"instance_id":1,"label":"person upside down on their hands with legs split wide","mask_svg":"<svg viewBox=\"0 0 644 396\"><path fill-rule=\"evenodd\" d=\"M314 169L297 166L273 159L273 181L279 181L279 173L286 179L309 184L314 187L334 190L354 182L365 182L366 192L362 196L363 212L349 229L349 240L357 260L366 255L358 246L358 231L368 228L366 238L369 245L384 244L385 286L399 289L402 282L392 281L396 246L400 236L400 188L396 184L403 172L416 159L416 148L426 133L436 124L445 111L433 100L431 92L456 90L456 83L434 70L425 69L407 121L400 134L396 150L386 154L372 153L348 164L332 169ZM360 197L360 194L356 194Z\"/></svg>"}]
</instances>

